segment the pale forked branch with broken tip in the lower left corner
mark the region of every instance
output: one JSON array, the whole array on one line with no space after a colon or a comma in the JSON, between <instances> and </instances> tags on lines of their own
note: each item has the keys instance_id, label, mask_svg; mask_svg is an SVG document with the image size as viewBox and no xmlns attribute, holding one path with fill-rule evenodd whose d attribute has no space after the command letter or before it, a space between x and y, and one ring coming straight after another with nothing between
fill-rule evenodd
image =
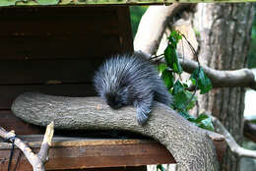
<instances>
[{"instance_id":1,"label":"pale forked branch with broken tip in the lower left corner","mask_svg":"<svg viewBox=\"0 0 256 171\"><path fill-rule=\"evenodd\" d=\"M15 138L15 145L18 146L25 154L29 162L32 164L33 171L44 171L44 163L47 161L48 151L53 137L53 127L54 124L51 122L45 131L43 142L41 143L40 150L37 154L32 152L32 149L28 144L23 142L20 138ZM14 131L7 132L5 129L0 127L0 137L4 140L9 140L10 138L15 137Z\"/></svg>"}]
</instances>

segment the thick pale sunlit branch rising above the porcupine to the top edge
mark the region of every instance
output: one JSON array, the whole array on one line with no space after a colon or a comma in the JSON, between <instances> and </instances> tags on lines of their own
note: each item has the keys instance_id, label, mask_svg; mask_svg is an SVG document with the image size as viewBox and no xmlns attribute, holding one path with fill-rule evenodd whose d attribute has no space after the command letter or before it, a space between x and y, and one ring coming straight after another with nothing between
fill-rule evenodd
<instances>
[{"instance_id":1,"label":"thick pale sunlit branch rising above the porcupine to the top edge","mask_svg":"<svg viewBox=\"0 0 256 171\"><path fill-rule=\"evenodd\" d=\"M137 30L134 39L134 49L142 50L148 54L156 54L161 36L169 19L188 6L189 4L174 3L170 6L149 7L143 15Z\"/></svg>"}]
</instances>

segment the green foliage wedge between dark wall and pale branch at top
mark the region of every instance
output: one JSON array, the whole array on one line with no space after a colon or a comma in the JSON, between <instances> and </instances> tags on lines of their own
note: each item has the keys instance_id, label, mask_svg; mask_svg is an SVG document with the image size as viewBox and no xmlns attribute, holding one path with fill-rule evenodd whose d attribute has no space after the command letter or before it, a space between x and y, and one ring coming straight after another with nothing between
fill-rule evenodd
<instances>
[{"instance_id":1,"label":"green foliage wedge between dark wall and pale branch at top","mask_svg":"<svg viewBox=\"0 0 256 171\"><path fill-rule=\"evenodd\" d=\"M130 7L133 37L135 36L138 26L140 24L141 18L147 9L148 9L148 6L131 6Z\"/></svg>"}]
</instances>

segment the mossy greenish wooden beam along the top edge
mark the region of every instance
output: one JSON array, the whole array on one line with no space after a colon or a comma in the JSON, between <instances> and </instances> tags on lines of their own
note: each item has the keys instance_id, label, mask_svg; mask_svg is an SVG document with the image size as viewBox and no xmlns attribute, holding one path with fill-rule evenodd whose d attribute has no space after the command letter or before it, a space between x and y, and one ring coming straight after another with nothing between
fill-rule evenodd
<instances>
[{"instance_id":1,"label":"mossy greenish wooden beam along the top edge","mask_svg":"<svg viewBox=\"0 0 256 171\"><path fill-rule=\"evenodd\" d=\"M107 6L107 5L170 5L172 3L224 3L224 2L255 2L255 0L2 0L0 7L6 6L64 6L64 5L86 5L86 6Z\"/></svg>"}]
</instances>

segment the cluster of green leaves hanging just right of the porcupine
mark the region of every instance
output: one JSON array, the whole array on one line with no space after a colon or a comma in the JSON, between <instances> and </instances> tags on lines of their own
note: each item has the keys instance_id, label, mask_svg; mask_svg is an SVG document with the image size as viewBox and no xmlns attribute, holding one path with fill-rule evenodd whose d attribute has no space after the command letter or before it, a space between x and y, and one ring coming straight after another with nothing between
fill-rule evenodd
<instances>
[{"instance_id":1,"label":"cluster of green leaves hanging just right of the porcupine","mask_svg":"<svg viewBox=\"0 0 256 171\"><path fill-rule=\"evenodd\" d=\"M176 52L178 41L181 40L182 37L184 37L184 35L178 31L173 30L170 33L167 47L163 54L166 64L160 64L159 66L161 79L164 81L173 96L174 103L171 107L174 110L177 110L180 115L198 127L214 131L212 121L206 114L200 114L197 118L188 114L188 110L192 109L196 104L197 98L195 96L195 92L197 88L200 90L201 94L207 93L213 88L210 79L207 78L204 70L200 67L199 62L199 68L191 74L189 81L183 83L180 79L175 79L180 78L180 74L182 73L182 67L179 63L179 58ZM195 53L194 49L193 52ZM189 82L191 83L190 85L194 85L194 92L188 90L189 85L186 83Z\"/></svg>"}]
</instances>

